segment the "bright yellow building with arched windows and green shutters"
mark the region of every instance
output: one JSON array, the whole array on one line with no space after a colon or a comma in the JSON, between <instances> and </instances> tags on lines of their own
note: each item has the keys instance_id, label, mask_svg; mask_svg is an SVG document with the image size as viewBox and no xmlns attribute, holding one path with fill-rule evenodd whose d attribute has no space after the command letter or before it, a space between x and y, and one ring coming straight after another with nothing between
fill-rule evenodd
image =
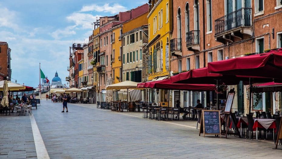
<instances>
[{"instance_id":1,"label":"bright yellow building with arched windows and green shutters","mask_svg":"<svg viewBox=\"0 0 282 159\"><path fill-rule=\"evenodd\" d=\"M169 42L173 28L172 0L150 0L152 8L149 10L149 77L153 80L157 77L167 76L170 72L170 47Z\"/></svg>"}]
</instances>

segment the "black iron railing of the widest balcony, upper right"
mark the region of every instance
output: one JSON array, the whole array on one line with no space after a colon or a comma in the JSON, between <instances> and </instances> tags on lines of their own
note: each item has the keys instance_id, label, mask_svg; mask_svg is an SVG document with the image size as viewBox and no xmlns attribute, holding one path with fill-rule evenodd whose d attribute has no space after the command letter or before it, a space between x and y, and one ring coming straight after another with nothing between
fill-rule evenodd
<instances>
[{"instance_id":1,"label":"black iron railing of the widest balcony, upper right","mask_svg":"<svg viewBox=\"0 0 282 159\"><path fill-rule=\"evenodd\" d=\"M215 20L215 35L241 26L252 26L252 8L241 8Z\"/></svg>"}]
</instances>

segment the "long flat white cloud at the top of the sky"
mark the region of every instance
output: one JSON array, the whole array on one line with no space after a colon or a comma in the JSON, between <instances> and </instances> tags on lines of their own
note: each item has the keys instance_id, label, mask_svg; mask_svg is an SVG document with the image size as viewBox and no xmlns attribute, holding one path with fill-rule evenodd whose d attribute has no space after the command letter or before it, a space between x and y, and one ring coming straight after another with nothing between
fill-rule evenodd
<instances>
[{"instance_id":1,"label":"long flat white cloud at the top of the sky","mask_svg":"<svg viewBox=\"0 0 282 159\"><path fill-rule=\"evenodd\" d=\"M96 12L110 12L112 14L115 14L119 12L124 12L126 10L127 9L124 6L119 5L118 3L115 3L112 6L110 6L109 3L106 3L103 6L99 6L96 4L83 6L80 12L96 11Z\"/></svg>"}]
</instances>

